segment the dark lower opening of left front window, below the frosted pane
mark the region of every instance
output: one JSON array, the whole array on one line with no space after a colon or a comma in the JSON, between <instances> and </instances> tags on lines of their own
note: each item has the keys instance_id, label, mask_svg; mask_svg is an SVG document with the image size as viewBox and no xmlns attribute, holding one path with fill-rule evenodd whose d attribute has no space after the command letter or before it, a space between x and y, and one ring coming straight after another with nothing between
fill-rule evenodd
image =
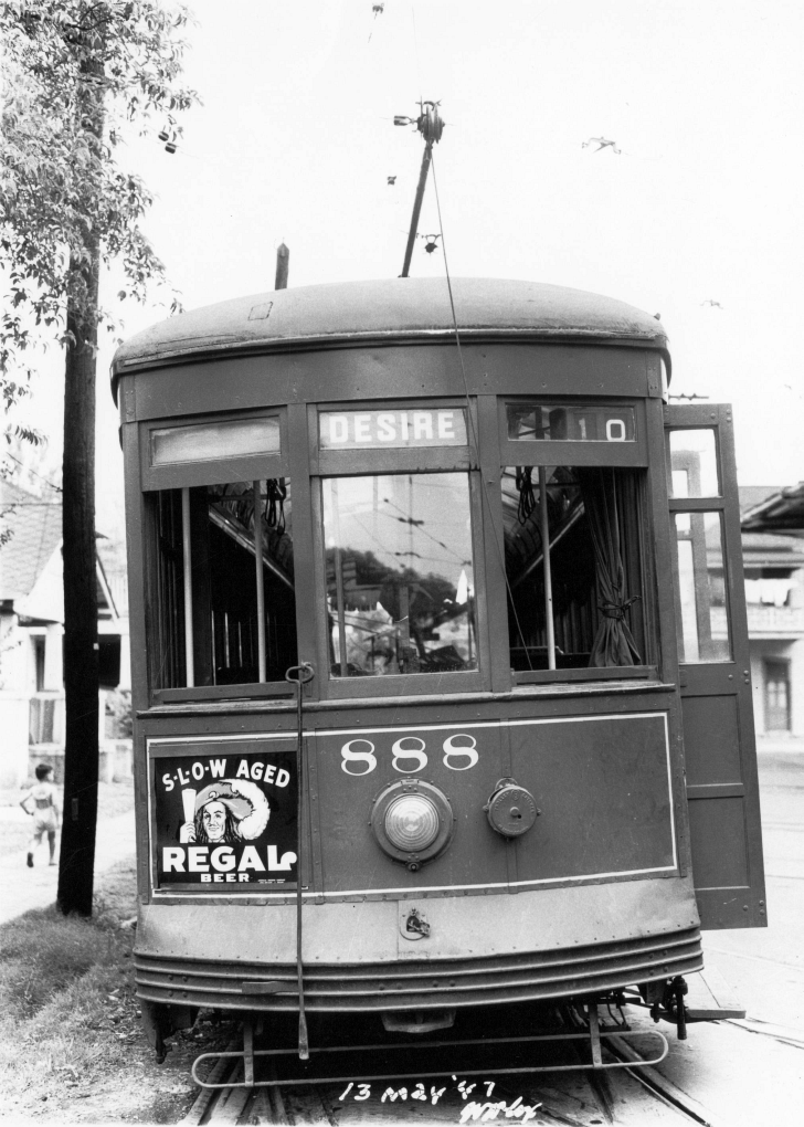
<instances>
[{"instance_id":1,"label":"dark lower opening of left front window, below the frosted pane","mask_svg":"<svg viewBox=\"0 0 804 1127\"><path fill-rule=\"evenodd\" d=\"M184 687L187 663L181 490L151 496L157 511L158 578L151 625L153 685ZM257 527L262 552L262 631ZM190 489L189 549L195 685L283 681L288 666L297 664L288 479L260 481L257 505L253 482Z\"/></svg>"}]
</instances>

